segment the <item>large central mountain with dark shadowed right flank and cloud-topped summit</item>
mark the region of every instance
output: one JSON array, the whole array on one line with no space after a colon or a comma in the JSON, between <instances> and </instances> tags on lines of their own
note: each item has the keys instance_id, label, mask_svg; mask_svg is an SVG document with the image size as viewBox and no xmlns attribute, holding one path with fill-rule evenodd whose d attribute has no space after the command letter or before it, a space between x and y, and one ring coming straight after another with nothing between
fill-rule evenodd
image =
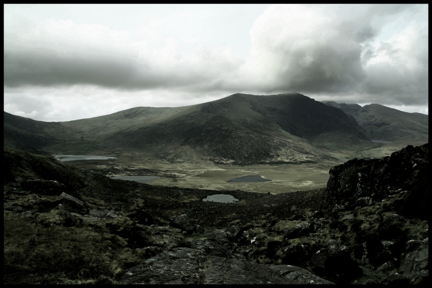
<instances>
[{"instance_id":1,"label":"large central mountain with dark shadowed right flank and cloud-topped summit","mask_svg":"<svg viewBox=\"0 0 432 288\"><path fill-rule=\"evenodd\" d=\"M366 138L341 110L304 95L237 93L189 107L152 125L119 131L104 145L147 151L167 145L188 146L218 161L237 164L304 163L320 154L311 141L324 133L331 144L341 143L340 139L332 141L333 135L342 134L345 145Z\"/></svg>"}]
</instances>

